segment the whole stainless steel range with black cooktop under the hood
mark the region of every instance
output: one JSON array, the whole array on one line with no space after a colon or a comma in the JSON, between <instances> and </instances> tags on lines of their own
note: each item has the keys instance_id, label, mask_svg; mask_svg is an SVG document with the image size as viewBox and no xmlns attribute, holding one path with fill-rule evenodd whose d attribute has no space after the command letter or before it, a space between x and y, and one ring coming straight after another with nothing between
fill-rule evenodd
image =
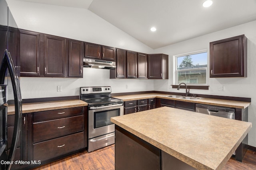
<instances>
[{"instance_id":1,"label":"whole stainless steel range with black cooktop under the hood","mask_svg":"<svg viewBox=\"0 0 256 170\"><path fill-rule=\"evenodd\" d=\"M88 152L115 143L110 117L124 115L124 102L111 97L111 87L81 87L80 100L88 103Z\"/></svg>"}]
</instances>

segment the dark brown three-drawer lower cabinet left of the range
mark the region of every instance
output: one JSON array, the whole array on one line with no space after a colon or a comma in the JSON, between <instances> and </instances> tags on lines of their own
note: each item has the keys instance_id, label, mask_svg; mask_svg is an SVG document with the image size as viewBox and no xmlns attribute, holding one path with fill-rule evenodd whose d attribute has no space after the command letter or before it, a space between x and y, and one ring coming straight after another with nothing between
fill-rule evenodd
<instances>
[{"instance_id":1,"label":"dark brown three-drawer lower cabinet left of the range","mask_svg":"<svg viewBox=\"0 0 256 170\"><path fill-rule=\"evenodd\" d=\"M28 160L40 162L29 168L61 159L87 147L87 106L28 114Z\"/></svg>"}]
</instances>

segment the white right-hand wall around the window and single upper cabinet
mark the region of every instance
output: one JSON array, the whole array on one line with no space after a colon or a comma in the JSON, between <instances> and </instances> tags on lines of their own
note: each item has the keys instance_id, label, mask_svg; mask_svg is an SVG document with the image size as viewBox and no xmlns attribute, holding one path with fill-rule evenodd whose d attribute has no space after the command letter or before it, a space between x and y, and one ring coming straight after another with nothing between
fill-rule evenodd
<instances>
[{"instance_id":1,"label":"white right-hand wall around the window and single upper cabinet","mask_svg":"<svg viewBox=\"0 0 256 170\"><path fill-rule=\"evenodd\" d=\"M173 84L173 56L207 49L209 52L209 43L228 37L234 37L244 34L248 38L247 47L247 62L248 75L246 78L209 78L209 90L191 89L190 93L195 94L210 94L218 96L235 96L252 98L251 106L248 107L248 121L252 122L252 129L249 132L249 145L256 147L256 21L238 25L217 31L204 36L189 39L180 43L156 49L155 53L165 53L169 55L169 79L154 80L154 90L168 92L185 92L184 89L176 90L169 88ZM208 53L209 65L209 53ZM207 70L209 75L209 68ZM164 82L163 82L164 81ZM218 91L218 86L225 86L225 91Z\"/></svg>"}]
</instances>

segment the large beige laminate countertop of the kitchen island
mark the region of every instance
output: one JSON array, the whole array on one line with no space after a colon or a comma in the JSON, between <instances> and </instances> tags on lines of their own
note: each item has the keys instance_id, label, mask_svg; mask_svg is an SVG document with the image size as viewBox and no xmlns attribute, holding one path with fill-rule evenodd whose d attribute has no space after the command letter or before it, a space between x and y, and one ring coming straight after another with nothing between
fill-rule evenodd
<instances>
[{"instance_id":1,"label":"large beige laminate countertop of the kitchen island","mask_svg":"<svg viewBox=\"0 0 256 170\"><path fill-rule=\"evenodd\" d=\"M204 170L222 169L252 127L249 122L170 107L112 117L111 121Z\"/></svg>"}]
</instances>

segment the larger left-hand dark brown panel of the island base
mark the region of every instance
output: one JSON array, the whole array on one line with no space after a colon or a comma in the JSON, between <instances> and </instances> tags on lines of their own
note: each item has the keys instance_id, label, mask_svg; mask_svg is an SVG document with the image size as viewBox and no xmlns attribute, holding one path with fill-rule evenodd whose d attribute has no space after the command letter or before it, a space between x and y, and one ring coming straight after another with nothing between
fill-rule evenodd
<instances>
[{"instance_id":1,"label":"larger left-hand dark brown panel of the island base","mask_svg":"<svg viewBox=\"0 0 256 170\"><path fill-rule=\"evenodd\" d=\"M115 170L161 170L160 149L115 125Z\"/></svg>"}]
</instances>

